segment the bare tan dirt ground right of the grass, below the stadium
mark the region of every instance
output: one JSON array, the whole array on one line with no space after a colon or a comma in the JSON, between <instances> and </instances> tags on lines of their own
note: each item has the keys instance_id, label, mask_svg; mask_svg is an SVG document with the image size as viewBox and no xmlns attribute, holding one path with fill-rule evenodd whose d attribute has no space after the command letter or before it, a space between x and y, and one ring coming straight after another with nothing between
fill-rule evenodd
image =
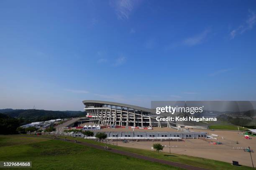
<instances>
[{"instance_id":1,"label":"bare tan dirt ground right of the grass, below the stadium","mask_svg":"<svg viewBox=\"0 0 256 170\"><path fill-rule=\"evenodd\" d=\"M252 137L252 139L246 140L243 135L238 132L211 130L203 131L210 134L213 133L219 135L218 137L215 137L217 140L212 141L219 141L222 144L213 145L201 139L186 139L185 142L171 142L171 153L190 155L212 160L220 160L227 163L232 163L232 160L235 160L238 161L241 165L252 166L250 154L248 152L244 152L243 148L250 146L252 150L256 150L256 137ZM130 148L151 150L153 143L161 143L161 145L165 146L163 152L169 153L169 142L118 142L118 145ZM256 165L256 154L251 154L253 158L253 164Z\"/></svg>"}]
</instances>

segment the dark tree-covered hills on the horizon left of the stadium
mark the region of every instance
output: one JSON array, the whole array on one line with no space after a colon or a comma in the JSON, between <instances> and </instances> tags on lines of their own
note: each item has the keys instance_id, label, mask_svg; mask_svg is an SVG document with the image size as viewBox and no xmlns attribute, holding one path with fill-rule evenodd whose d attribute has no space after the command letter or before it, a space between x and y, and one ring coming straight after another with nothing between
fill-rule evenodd
<instances>
[{"instance_id":1,"label":"dark tree-covered hills on the horizon left of the stadium","mask_svg":"<svg viewBox=\"0 0 256 170\"><path fill-rule=\"evenodd\" d=\"M4 110L4 109L2 109ZM6 109L5 109L6 110ZM26 109L26 110L13 110L9 112L3 112L10 117L15 117L20 119L23 123L40 122L51 119L61 119L66 117L82 117L86 115L86 112L82 111L52 111L52 110L36 110L36 109Z\"/></svg>"}]
</instances>

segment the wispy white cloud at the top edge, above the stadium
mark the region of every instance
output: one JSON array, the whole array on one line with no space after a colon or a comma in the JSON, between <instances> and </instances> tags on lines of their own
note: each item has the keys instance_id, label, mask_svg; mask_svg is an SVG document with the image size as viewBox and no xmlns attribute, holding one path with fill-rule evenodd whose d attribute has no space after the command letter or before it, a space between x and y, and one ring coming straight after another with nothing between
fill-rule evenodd
<instances>
[{"instance_id":1,"label":"wispy white cloud at the top edge, above the stadium","mask_svg":"<svg viewBox=\"0 0 256 170\"><path fill-rule=\"evenodd\" d=\"M140 2L141 0L110 0L110 6L115 9L118 20L128 20Z\"/></svg>"}]
</instances>

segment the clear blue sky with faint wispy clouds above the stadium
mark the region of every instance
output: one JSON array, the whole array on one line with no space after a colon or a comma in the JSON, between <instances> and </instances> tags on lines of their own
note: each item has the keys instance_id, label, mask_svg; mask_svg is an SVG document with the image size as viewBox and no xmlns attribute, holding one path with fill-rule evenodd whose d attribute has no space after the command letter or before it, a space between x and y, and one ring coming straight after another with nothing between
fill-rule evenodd
<instances>
[{"instance_id":1,"label":"clear blue sky with faint wispy clouds above the stadium","mask_svg":"<svg viewBox=\"0 0 256 170\"><path fill-rule=\"evenodd\" d=\"M0 108L256 100L256 1L0 1Z\"/></svg>"}]
</instances>

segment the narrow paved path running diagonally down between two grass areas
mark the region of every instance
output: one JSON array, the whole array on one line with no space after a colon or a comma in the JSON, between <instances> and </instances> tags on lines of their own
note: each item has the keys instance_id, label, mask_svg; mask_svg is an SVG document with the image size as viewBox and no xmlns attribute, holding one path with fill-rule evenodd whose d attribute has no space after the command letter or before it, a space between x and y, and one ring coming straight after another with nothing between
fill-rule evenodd
<instances>
[{"instance_id":1,"label":"narrow paved path running diagonally down between two grass areas","mask_svg":"<svg viewBox=\"0 0 256 170\"><path fill-rule=\"evenodd\" d=\"M68 140L58 139L58 140L63 140L63 141L67 141L67 142L70 142L70 143L74 143L74 140L69 140L69 139ZM89 146L89 147L100 149L100 150L104 150L104 147L100 146L100 145L94 145L94 144L91 144L91 143L80 142L80 141L77 142L77 144L84 145L84 146ZM184 164L181 164L181 163L174 163L174 162L167 161L167 160L159 160L159 159L156 159L156 158L150 158L150 157L147 157L147 156L138 155L136 153L130 153L130 152L122 151L122 150L110 149L110 150L107 150L107 151L112 152L112 153L118 153L120 155L131 156L133 158L148 160L148 161L151 161L151 162L171 165L173 167L183 168L183 169L186 169L186 170L206 170L204 168L198 168L198 167L194 167L194 166L190 166L190 165L184 165Z\"/></svg>"}]
</instances>

